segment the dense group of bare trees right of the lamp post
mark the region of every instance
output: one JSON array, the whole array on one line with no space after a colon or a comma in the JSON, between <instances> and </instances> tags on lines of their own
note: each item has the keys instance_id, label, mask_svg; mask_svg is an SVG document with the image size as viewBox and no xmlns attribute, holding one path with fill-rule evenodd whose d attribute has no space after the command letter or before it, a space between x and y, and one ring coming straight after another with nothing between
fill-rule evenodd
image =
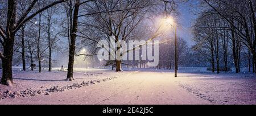
<instances>
[{"instance_id":1,"label":"dense group of bare trees right of the lamp post","mask_svg":"<svg viewBox=\"0 0 256 116\"><path fill-rule=\"evenodd\" d=\"M211 64L212 72L241 72L247 61L256 72L256 15L254 0L202 0L193 26L193 49ZM252 71L251 71L252 68Z\"/></svg>"}]
</instances>

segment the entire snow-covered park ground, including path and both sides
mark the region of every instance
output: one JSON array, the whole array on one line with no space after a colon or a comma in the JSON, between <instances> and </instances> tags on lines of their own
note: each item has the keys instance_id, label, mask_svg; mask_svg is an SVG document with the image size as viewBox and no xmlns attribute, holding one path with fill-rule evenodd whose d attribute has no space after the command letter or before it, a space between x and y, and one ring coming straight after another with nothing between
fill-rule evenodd
<instances>
[{"instance_id":1,"label":"entire snow-covered park ground, including path and both sides","mask_svg":"<svg viewBox=\"0 0 256 116\"><path fill-rule=\"evenodd\" d=\"M71 82L59 68L13 68L15 84L0 85L0 104L256 104L256 75L246 68L217 74L180 67L176 78L164 69L123 70L75 68Z\"/></svg>"}]
</instances>

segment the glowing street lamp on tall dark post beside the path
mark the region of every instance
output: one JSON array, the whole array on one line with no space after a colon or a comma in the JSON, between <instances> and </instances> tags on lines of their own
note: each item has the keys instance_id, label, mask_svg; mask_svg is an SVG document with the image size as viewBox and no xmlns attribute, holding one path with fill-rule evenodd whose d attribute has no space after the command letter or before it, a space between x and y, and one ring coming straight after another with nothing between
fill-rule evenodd
<instances>
[{"instance_id":1,"label":"glowing street lamp on tall dark post beside the path","mask_svg":"<svg viewBox=\"0 0 256 116\"><path fill-rule=\"evenodd\" d=\"M177 77L177 25L174 21L174 18L172 17L167 17L164 18L163 21L166 24L170 24L171 26L175 27L175 77Z\"/></svg>"}]
</instances>

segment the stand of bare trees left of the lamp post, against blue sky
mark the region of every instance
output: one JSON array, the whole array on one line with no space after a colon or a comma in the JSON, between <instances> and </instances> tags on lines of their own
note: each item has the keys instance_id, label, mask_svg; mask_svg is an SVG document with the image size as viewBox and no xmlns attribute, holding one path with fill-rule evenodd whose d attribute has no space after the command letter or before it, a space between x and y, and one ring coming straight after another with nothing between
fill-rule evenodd
<instances>
[{"instance_id":1,"label":"stand of bare trees left of the lamp post, against blue sky","mask_svg":"<svg viewBox=\"0 0 256 116\"><path fill-rule=\"evenodd\" d=\"M175 3L171 0L0 1L1 83L13 84L12 66L17 54L21 55L23 71L26 71L26 59L30 59L32 70L32 64L38 62L39 72L42 72L43 62L48 63L48 71L51 71L52 52L60 49L68 51L67 80L72 81L77 43L97 43L97 39L109 40L110 36L131 39L147 13L156 9L172 11ZM84 40L77 42L77 37ZM121 61L116 60L116 63L119 71Z\"/></svg>"}]
</instances>

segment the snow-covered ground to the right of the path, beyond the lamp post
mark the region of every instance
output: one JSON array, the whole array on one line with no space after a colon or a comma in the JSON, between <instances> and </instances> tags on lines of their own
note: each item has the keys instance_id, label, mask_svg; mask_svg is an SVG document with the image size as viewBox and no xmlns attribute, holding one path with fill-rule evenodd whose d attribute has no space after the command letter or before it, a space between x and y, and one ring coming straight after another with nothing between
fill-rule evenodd
<instances>
[{"instance_id":1,"label":"snow-covered ground to the right of the path, beyond the lamp post","mask_svg":"<svg viewBox=\"0 0 256 116\"><path fill-rule=\"evenodd\" d=\"M256 104L255 74L182 73L175 82L214 104Z\"/></svg>"}]
</instances>

